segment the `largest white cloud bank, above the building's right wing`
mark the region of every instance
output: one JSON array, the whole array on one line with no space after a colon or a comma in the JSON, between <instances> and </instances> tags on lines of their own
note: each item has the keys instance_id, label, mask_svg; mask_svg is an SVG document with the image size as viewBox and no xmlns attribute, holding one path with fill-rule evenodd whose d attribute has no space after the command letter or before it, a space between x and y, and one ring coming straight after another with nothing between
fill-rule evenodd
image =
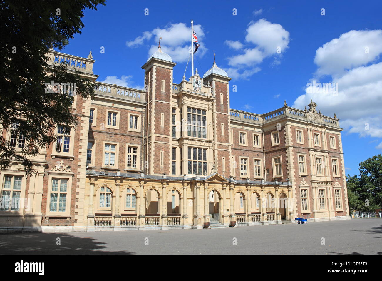
<instances>
[{"instance_id":1,"label":"largest white cloud bank, above the building's right wing","mask_svg":"<svg viewBox=\"0 0 382 281\"><path fill-rule=\"evenodd\" d=\"M329 82L338 83L338 92L329 93L324 88L311 93L307 88L293 107L303 109L312 97L323 114L336 113L340 126L348 133L381 138L382 62L376 59L382 53L382 46L376 46L376 42L382 45L382 31L352 30L317 49L316 75L330 75ZM370 57L361 54L365 46L373 46L369 49Z\"/></svg>"}]
</instances>

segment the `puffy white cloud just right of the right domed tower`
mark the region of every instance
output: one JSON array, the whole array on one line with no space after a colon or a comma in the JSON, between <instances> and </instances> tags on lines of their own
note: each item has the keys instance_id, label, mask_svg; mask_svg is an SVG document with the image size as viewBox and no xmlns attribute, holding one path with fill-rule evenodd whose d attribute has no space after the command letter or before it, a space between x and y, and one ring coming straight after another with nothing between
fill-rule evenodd
<instances>
[{"instance_id":1,"label":"puffy white cloud just right of the right domed tower","mask_svg":"<svg viewBox=\"0 0 382 281\"><path fill-rule=\"evenodd\" d=\"M279 65L281 54L278 52L278 49L283 53L288 48L289 32L280 24L259 19L248 24L245 41L249 44L254 44L254 47L246 48L242 54L227 58L228 64L231 66L227 73L229 72L232 78L248 79L249 76L260 70L256 65L262 63L267 57L274 56L274 61L271 65ZM235 44L237 49L242 49L243 47L243 43L240 41L227 40L225 43L230 47ZM233 48L235 49L235 47Z\"/></svg>"}]
</instances>

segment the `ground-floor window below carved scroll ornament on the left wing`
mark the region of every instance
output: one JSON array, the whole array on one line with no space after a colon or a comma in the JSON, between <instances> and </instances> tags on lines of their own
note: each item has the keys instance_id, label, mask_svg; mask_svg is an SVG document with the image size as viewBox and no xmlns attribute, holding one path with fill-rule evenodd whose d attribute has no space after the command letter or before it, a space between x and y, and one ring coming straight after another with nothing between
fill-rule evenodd
<instances>
[{"instance_id":1,"label":"ground-floor window below carved scroll ornament on the left wing","mask_svg":"<svg viewBox=\"0 0 382 281\"><path fill-rule=\"evenodd\" d=\"M50 192L50 212L66 211L66 195L68 194L67 179L52 179L52 190Z\"/></svg>"}]
</instances>

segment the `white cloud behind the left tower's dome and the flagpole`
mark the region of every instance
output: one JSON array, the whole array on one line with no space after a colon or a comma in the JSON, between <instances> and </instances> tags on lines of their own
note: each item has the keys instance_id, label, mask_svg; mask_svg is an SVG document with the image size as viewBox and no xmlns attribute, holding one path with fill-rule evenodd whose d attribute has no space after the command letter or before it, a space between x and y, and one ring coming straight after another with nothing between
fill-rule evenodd
<instances>
[{"instance_id":1,"label":"white cloud behind the left tower's dome and the flagpole","mask_svg":"<svg viewBox=\"0 0 382 281\"><path fill-rule=\"evenodd\" d=\"M208 50L202 43L204 38L203 28L200 24L195 24L193 28L196 32L199 44L201 45L196 55L198 57L203 57ZM191 27L187 26L185 23L172 23L165 26L165 28L155 28L152 31L145 31L141 36L138 36L131 41L127 41L126 46L139 47L143 44L147 44L147 41L151 41L154 44L150 46L147 53L150 57L158 49L159 33L160 37L162 37L160 46L163 52L170 55L174 62L187 62L189 47L191 45Z\"/></svg>"}]
</instances>

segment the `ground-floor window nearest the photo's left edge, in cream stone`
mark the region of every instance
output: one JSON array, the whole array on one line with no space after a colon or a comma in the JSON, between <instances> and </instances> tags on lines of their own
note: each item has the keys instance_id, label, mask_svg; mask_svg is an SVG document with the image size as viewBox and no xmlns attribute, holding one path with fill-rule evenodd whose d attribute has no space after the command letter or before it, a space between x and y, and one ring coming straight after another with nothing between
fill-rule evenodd
<instances>
[{"instance_id":1,"label":"ground-floor window nearest the photo's left edge, in cream stone","mask_svg":"<svg viewBox=\"0 0 382 281\"><path fill-rule=\"evenodd\" d=\"M2 189L1 211L18 211L20 209L21 179L23 177L6 175Z\"/></svg>"}]
</instances>

